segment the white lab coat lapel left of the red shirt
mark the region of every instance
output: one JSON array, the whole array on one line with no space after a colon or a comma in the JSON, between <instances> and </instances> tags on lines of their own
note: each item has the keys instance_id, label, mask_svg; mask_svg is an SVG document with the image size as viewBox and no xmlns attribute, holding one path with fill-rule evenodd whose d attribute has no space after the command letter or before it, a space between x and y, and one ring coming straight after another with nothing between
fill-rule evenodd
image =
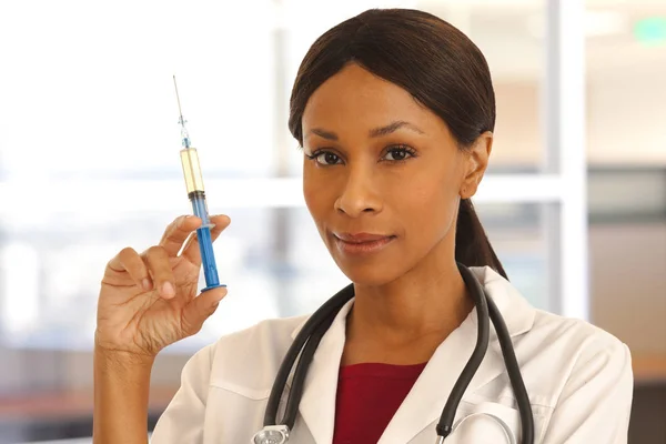
<instances>
[{"instance_id":1,"label":"white lab coat lapel left of the red shirt","mask_svg":"<svg viewBox=\"0 0 666 444\"><path fill-rule=\"evenodd\" d=\"M346 315L352 304L353 300L342 307L322 337L305 379L299 412L316 444L333 442L337 375L344 349Z\"/></svg>"}]
</instances>

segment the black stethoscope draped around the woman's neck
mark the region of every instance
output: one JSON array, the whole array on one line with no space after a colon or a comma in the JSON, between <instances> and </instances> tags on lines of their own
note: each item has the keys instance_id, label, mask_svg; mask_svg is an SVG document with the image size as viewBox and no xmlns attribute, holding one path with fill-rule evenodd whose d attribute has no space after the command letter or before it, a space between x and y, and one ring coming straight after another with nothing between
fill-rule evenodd
<instances>
[{"instance_id":1,"label":"black stethoscope draped around the woman's neck","mask_svg":"<svg viewBox=\"0 0 666 444\"><path fill-rule=\"evenodd\" d=\"M534 442L534 418L532 416L532 407L529 405L529 397L527 396L527 390L523 382L521 369L514 353L511 336L502 314L497 310L497 306L491 297L487 296L485 290L470 269L465 265L457 264L463 281L467 286L467 290L472 294L474 304L476 305L476 312L478 314L478 334L476 336L476 345L472 352L472 356L467 364L463 369L463 372L458 376L455 385L453 386L448 400L442 411L442 416L437 423L437 444L442 444L444 440L457 428L464 421L476 415L486 415L495 420L504 430L508 443L516 443L515 434L511 427L504 423L497 416L492 414L476 413L474 415L466 416L460 420L455 425L453 424L455 412L458 404L465 393L465 390L472 382L474 374L478 370L483 357L488 349L490 342L490 321L493 321L497 337L500 340L500 347L502 349L502 355L504 357L504 364L508 373L511 385L516 396L518 404L518 411L521 413L521 427L522 427L522 442L524 444L532 444ZM299 410L299 403L303 395L303 387L305 382L305 375L307 367L312 362L316 347L333 323L333 320L340 312L340 310L354 297L353 284L347 285L337 292L333 297L326 301L303 325L302 330L296 335L291 347L286 352L273 387L271 389L271 395L266 405L264 415L264 428L259 431L254 435L254 444L285 444L289 441L290 431L293 430L296 421L296 412ZM286 387L286 381L291 374L296 359L299 362L294 371L291 391L286 400L286 407L281 423L278 423L278 408L280 407L280 398Z\"/></svg>"}]
</instances>

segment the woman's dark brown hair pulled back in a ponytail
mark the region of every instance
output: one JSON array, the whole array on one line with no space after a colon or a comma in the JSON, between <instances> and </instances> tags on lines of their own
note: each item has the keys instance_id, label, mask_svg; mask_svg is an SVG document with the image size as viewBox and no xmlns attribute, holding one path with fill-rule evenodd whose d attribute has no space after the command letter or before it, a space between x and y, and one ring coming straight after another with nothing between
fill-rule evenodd
<instances>
[{"instance_id":1,"label":"woman's dark brown hair pulled back in a ponytail","mask_svg":"<svg viewBox=\"0 0 666 444\"><path fill-rule=\"evenodd\" d=\"M310 48L292 90L289 128L303 145L301 121L312 93L354 62L408 91L448 125L462 150L495 127L495 92L487 62L461 31L427 12L371 9L326 31ZM461 200L455 259L506 273L474 211Z\"/></svg>"}]
</instances>

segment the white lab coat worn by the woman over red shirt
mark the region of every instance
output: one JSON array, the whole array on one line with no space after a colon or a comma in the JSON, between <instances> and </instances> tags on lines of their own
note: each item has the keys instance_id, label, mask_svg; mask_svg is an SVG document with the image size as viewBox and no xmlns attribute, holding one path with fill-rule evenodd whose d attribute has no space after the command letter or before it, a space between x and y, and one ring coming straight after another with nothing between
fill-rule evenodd
<instances>
[{"instance_id":1,"label":"white lab coat worn by the woman over red shirt","mask_svg":"<svg viewBox=\"0 0 666 444\"><path fill-rule=\"evenodd\" d=\"M511 333L532 403L535 443L626 443L633 393L627 346L586 322L534 309L488 268L471 270L496 303ZM291 444L332 443L337 371L352 303L340 312L314 355ZM185 364L182 385L160 417L151 443L250 443L262 428L282 357L305 320L264 321L199 351ZM380 444L435 442L442 408L474 349L476 323L474 310L437 347ZM519 440L515 397L494 329L491 332L491 345L454 424L475 412L491 413ZM446 440L447 444L504 442L503 428L485 415L465 421Z\"/></svg>"}]
</instances>

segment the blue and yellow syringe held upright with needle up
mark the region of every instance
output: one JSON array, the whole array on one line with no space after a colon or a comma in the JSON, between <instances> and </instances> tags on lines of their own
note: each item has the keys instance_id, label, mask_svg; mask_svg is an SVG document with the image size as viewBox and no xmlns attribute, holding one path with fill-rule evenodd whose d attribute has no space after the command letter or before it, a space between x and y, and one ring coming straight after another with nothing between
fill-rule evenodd
<instances>
[{"instance_id":1,"label":"blue and yellow syringe held upright with needle up","mask_svg":"<svg viewBox=\"0 0 666 444\"><path fill-rule=\"evenodd\" d=\"M183 119L183 112L180 105L175 75L173 75L173 87L175 88L178 111L180 113L179 124L181 125L181 138L183 143L183 149L181 150L181 163L183 165L183 174L185 175L188 196L190 198L190 202L192 202L194 214L202 221L201 226L196 229L196 238L199 241L199 250L201 252L203 275L205 278L205 289L202 291L206 291L226 285L220 284L220 278L218 278L218 266L215 265L213 241L211 239L211 229L214 225L209 218L205 191L203 189L203 178L201 175L201 167L199 165L199 154L196 153L196 149L190 145L190 134L185 128L185 120Z\"/></svg>"}]
</instances>

